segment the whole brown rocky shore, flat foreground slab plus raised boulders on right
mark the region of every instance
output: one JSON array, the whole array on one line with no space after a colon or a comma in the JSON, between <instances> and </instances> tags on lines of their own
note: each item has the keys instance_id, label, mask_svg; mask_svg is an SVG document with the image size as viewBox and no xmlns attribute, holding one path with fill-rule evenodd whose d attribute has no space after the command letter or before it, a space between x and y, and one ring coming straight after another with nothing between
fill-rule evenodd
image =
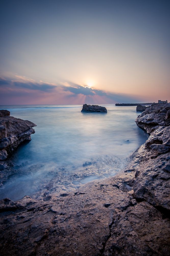
<instances>
[{"instance_id":1,"label":"whole brown rocky shore, flat foreground slab plus raised boulders on right","mask_svg":"<svg viewBox=\"0 0 170 256\"><path fill-rule=\"evenodd\" d=\"M116 176L42 200L1 200L1 255L170 255L170 104L136 123L150 136Z\"/></svg>"}]
</instances>

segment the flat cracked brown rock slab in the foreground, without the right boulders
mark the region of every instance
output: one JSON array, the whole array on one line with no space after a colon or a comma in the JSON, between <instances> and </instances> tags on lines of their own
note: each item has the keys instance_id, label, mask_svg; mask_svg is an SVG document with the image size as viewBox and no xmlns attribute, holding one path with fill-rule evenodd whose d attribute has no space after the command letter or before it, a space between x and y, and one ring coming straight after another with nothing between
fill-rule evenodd
<instances>
[{"instance_id":1,"label":"flat cracked brown rock slab in the foreground, without the right boulders","mask_svg":"<svg viewBox=\"0 0 170 256\"><path fill-rule=\"evenodd\" d=\"M126 190L124 182L134 180L134 174L121 173L42 201L28 196L1 200L1 255L168 255L169 219Z\"/></svg>"}]
</instances>

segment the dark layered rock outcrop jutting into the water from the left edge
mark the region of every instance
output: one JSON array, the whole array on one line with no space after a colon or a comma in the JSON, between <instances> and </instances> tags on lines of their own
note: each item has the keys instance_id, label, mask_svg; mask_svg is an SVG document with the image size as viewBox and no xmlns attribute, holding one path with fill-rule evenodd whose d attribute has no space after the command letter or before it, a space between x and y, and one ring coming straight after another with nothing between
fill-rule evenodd
<instances>
[{"instance_id":1,"label":"dark layered rock outcrop jutting into the water from the left edge","mask_svg":"<svg viewBox=\"0 0 170 256\"><path fill-rule=\"evenodd\" d=\"M36 124L10 116L8 110L0 110L0 160L5 160L20 143L31 140Z\"/></svg>"}]
</instances>

